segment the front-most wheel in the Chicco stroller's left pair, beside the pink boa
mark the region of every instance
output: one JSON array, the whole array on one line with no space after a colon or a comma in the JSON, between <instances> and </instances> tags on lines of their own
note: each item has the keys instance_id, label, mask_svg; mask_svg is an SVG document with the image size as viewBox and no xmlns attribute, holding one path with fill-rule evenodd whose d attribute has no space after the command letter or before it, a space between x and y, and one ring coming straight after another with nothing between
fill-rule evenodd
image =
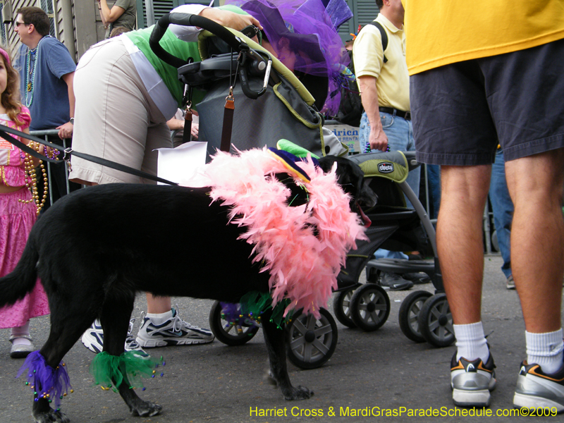
<instances>
[{"instance_id":1,"label":"front-most wheel in the Chicco stroller's left pair, beside the pink boa","mask_svg":"<svg viewBox=\"0 0 564 423\"><path fill-rule=\"evenodd\" d=\"M376 331L390 314L390 298L386 290L375 283L358 288L350 299L350 317L363 331Z\"/></svg>"}]
</instances>

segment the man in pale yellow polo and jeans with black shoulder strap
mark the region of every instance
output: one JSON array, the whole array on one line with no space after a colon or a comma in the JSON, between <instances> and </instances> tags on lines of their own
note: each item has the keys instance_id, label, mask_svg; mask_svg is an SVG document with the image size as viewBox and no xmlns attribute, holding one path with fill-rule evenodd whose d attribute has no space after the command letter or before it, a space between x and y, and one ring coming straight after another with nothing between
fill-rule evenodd
<instances>
[{"instance_id":1,"label":"man in pale yellow polo and jeans with black shoulder strap","mask_svg":"<svg viewBox=\"0 0 564 423\"><path fill-rule=\"evenodd\" d=\"M384 29L386 51L376 25L362 28L353 44L355 74L364 112L360 120L361 147L369 144L373 150L415 151L410 115L410 82L405 63L404 9L401 0L376 0L380 13L375 22ZM384 59L385 57L385 59ZM415 195L419 195L419 168L407 176ZM406 199L407 206L411 203ZM378 250L377 258L407 259L402 252ZM381 284L392 290L413 286L398 274L383 272Z\"/></svg>"}]
</instances>

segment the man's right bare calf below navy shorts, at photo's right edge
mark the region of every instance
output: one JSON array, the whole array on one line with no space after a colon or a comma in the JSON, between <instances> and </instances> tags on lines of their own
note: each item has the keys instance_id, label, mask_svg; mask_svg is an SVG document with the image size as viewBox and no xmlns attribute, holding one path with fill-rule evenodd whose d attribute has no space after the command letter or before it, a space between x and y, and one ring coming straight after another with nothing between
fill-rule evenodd
<instances>
[{"instance_id":1,"label":"man's right bare calf below navy shorts, at photo's right edge","mask_svg":"<svg viewBox=\"0 0 564 423\"><path fill-rule=\"evenodd\" d=\"M505 163L515 204L511 266L525 327L531 333L557 331L561 326L563 169L564 149Z\"/></svg>"}]
</instances>

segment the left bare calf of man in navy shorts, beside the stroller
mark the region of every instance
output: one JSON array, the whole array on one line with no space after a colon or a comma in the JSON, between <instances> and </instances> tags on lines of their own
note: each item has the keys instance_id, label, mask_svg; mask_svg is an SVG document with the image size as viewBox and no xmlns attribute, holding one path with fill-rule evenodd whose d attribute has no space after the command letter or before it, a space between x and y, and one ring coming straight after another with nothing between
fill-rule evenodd
<instances>
[{"instance_id":1,"label":"left bare calf of man in navy shorts, beside the stroller","mask_svg":"<svg viewBox=\"0 0 564 423\"><path fill-rule=\"evenodd\" d=\"M481 320L484 246L482 216L491 166L441 166L437 247L455 324Z\"/></svg>"}]
</instances>

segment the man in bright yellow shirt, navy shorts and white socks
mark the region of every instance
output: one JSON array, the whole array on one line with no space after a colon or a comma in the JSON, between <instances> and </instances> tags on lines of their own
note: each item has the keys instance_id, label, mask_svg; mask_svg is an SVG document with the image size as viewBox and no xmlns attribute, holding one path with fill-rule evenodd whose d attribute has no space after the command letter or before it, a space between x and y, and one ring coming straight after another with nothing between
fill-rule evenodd
<instances>
[{"instance_id":1,"label":"man in bright yellow shirt, navy shorts and white socks","mask_svg":"<svg viewBox=\"0 0 564 423\"><path fill-rule=\"evenodd\" d=\"M458 347L453 401L489 405L496 384L481 320L482 214L499 140L527 341L513 405L562 412L564 1L404 3L417 159L441 165L437 245Z\"/></svg>"}]
</instances>

